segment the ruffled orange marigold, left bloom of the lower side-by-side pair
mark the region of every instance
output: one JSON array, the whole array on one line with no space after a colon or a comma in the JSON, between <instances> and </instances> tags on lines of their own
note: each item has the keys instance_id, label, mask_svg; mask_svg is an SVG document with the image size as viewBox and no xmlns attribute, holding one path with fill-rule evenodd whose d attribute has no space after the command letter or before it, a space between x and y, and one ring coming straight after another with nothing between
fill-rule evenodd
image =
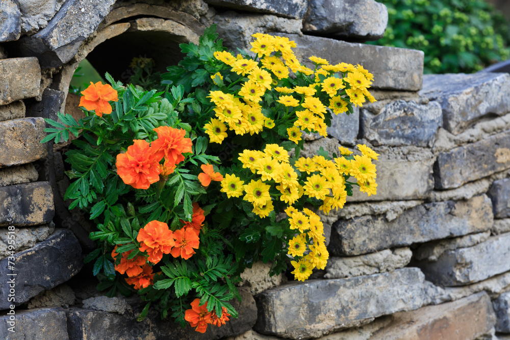
<instances>
[{"instance_id":1,"label":"ruffled orange marigold, left bloom of the lower side-by-side pair","mask_svg":"<svg viewBox=\"0 0 510 340\"><path fill-rule=\"evenodd\" d=\"M137 241L142 243L140 251L146 251L149 255L148 260L157 264L163 254L169 254L175 245L175 235L168 228L168 224L159 221L150 221L140 231L136 237Z\"/></svg>"}]
</instances>

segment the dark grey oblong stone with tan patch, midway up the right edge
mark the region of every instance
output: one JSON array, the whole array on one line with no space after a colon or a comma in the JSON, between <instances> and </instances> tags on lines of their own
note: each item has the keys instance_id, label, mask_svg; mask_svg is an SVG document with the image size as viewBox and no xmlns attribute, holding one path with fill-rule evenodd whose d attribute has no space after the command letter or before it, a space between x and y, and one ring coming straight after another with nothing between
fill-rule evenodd
<instances>
[{"instance_id":1,"label":"dark grey oblong stone with tan patch, midway up the right edge","mask_svg":"<svg viewBox=\"0 0 510 340\"><path fill-rule=\"evenodd\" d=\"M436 189L458 188L466 182L510 168L510 130L438 155Z\"/></svg>"}]
</instances>

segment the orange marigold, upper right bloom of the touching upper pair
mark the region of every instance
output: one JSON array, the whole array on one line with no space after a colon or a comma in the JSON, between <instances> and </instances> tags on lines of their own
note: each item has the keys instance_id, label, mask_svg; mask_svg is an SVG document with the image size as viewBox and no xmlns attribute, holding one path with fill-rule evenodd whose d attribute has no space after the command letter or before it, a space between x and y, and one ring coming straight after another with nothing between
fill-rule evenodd
<instances>
[{"instance_id":1,"label":"orange marigold, upper right bloom of the touching upper pair","mask_svg":"<svg viewBox=\"0 0 510 340\"><path fill-rule=\"evenodd\" d=\"M158 139L152 142L152 148L159 159L165 156L165 163L173 164L184 161L183 153L191 152L191 139L184 138L186 130L170 126L160 126L154 130L158 133Z\"/></svg>"}]
</instances>

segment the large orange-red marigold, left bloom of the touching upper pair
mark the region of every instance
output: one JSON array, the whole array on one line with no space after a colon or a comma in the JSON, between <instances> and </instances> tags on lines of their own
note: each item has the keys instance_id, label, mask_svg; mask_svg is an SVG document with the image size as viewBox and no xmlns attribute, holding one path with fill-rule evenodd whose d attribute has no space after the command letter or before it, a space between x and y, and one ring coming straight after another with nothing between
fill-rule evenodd
<instances>
[{"instance_id":1,"label":"large orange-red marigold, left bloom of the touching upper pair","mask_svg":"<svg viewBox=\"0 0 510 340\"><path fill-rule=\"evenodd\" d=\"M160 165L152 149L144 140L135 139L126 153L117 155L117 174L125 184L135 189L147 189L159 180Z\"/></svg>"}]
</instances>

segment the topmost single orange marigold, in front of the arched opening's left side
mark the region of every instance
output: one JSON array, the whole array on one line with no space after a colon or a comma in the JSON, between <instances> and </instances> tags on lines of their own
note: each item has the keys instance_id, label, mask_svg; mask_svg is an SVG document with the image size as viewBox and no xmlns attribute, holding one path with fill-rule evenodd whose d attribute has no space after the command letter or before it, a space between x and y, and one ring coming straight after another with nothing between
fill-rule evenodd
<instances>
[{"instance_id":1,"label":"topmost single orange marigold, in front of the arched opening's left side","mask_svg":"<svg viewBox=\"0 0 510 340\"><path fill-rule=\"evenodd\" d=\"M92 83L88 88L81 92L83 96L80 98L80 106L85 109L92 111L99 117L103 117L103 114L111 114L112 106L109 101L117 101L117 91L108 84L103 85L101 82Z\"/></svg>"}]
</instances>

